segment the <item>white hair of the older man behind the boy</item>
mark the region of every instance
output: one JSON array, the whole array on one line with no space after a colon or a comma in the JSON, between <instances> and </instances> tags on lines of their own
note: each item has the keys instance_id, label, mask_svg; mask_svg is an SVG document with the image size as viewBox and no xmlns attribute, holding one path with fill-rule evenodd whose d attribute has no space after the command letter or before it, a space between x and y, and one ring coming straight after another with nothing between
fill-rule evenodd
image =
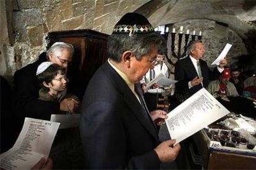
<instances>
[{"instance_id":1,"label":"white hair of the older man behind the boy","mask_svg":"<svg viewBox=\"0 0 256 170\"><path fill-rule=\"evenodd\" d=\"M72 44L66 42L55 42L51 47L49 47L48 51L46 52L47 58L49 58L49 54L53 52L54 56L61 55L63 49L69 49L71 54L74 54L74 47Z\"/></svg>"}]
</instances>

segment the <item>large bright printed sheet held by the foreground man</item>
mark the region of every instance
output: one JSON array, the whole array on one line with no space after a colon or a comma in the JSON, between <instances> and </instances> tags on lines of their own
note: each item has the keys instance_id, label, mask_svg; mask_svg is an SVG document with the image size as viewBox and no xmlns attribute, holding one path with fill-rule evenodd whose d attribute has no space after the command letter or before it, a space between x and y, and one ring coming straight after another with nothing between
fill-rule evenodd
<instances>
[{"instance_id":1,"label":"large bright printed sheet held by the foreground man","mask_svg":"<svg viewBox=\"0 0 256 170\"><path fill-rule=\"evenodd\" d=\"M201 89L168 113L165 120L176 144L230 113L206 89Z\"/></svg>"}]
</instances>

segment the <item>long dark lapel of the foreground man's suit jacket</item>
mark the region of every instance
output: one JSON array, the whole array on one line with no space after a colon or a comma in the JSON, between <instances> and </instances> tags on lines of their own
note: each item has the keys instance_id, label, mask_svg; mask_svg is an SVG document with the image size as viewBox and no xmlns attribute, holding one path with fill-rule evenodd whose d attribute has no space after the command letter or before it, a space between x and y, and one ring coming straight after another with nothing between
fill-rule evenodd
<instances>
[{"instance_id":1,"label":"long dark lapel of the foreground man's suit jacket","mask_svg":"<svg viewBox=\"0 0 256 170\"><path fill-rule=\"evenodd\" d=\"M113 80L114 86L116 87L117 91L121 92L124 95L124 102L127 106L132 110L132 113L135 117L140 121L140 123L147 129L150 134L158 139L158 134L156 134L155 127L151 124L150 120L148 120L145 116L145 111L140 105L139 100L135 97L133 92L130 90L128 85L125 83L124 79L118 75L118 73L109 65L108 62L103 65L103 70L109 79ZM108 74L109 73L109 74Z\"/></svg>"}]
</instances>

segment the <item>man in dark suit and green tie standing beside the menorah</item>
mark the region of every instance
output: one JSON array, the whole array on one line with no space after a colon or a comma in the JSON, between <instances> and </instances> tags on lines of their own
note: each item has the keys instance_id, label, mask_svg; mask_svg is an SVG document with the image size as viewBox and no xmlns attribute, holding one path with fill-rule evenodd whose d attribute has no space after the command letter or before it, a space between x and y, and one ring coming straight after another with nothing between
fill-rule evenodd
<instances>
[{"instance_id":1,"label":"man in dark suit and green tie standing beside the menorah","mask_svg":"<svg viewBox=\"0 0 256 170\"><path fill-rule=\"evenodd\" d=\"M207 87L209 81L218 79L227 63L227 60L223 59L220 65L211 71L207 62L202 60L205 49L201 40L190 42L187 52L189 55L177 61L174 71L175 79L178 81L176 95L181 101L186 100L202 87Z\"/></svg>"}]
</instances>

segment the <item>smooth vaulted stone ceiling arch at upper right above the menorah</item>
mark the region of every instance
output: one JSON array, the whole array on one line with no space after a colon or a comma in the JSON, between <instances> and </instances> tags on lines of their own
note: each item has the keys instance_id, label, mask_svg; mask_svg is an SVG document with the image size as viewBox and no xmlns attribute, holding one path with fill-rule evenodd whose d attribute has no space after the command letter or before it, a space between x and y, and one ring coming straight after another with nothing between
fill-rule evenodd
<instances>
[{"instance_id":1,"label":"smooth vaulted stone ceiling arch at upper right above the menorah","mask_svg":"<svg viewBox=\"0 0 256 170\"><path fill-rule=\"evenodd\" d=\"M153 0L136 10L154 26L193 19L214 20L236 32L249 52L256 49L256 1Z\"/></svg>"}]
</instances>

